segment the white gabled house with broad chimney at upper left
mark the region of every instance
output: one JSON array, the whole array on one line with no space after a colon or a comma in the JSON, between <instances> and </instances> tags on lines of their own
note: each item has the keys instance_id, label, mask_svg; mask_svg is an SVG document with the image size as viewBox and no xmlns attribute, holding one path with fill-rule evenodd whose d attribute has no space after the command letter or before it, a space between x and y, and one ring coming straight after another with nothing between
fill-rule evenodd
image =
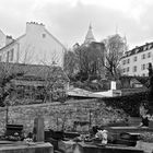
<instances>
[{"instance_id":1,"label":"white gabled house with broad chimney at upper left","mask_svg":"<svg viewBox=\"0 0 153 153\"><path fill-rule=\"evenodd\" d=\"M27 22L25 34L5 42L0 49L0 61L63 67L66 47L52 36L44 24Z\"/></svg>"}]
</instances>

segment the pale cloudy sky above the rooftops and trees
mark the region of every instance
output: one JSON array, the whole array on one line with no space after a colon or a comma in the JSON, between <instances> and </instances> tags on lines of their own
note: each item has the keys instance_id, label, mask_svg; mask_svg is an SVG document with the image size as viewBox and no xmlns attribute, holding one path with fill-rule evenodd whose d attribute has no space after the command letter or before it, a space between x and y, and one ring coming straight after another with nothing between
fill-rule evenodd
<instances>
[{"instance_id":1,"label":"pale cloudy sky above the rooftops and trees","mask_svg":"<svg viewBox=\"0 0 153 153\"><path fill-rule=\"evenodd\" d=\"M153 42L153 0L0 0L0 30L14 38L26 22L44 23L66 47L84 42L90 23L97 42L116 33L129 48Z\"/></svg>"}]
</instances>

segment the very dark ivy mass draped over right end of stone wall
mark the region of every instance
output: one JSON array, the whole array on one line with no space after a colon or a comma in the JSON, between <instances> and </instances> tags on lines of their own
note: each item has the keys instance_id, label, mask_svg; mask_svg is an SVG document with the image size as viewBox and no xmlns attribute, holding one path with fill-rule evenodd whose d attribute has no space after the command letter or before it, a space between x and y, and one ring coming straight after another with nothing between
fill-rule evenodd
<instances>
[{"instance_id":1,"label":"very dark ivy mass draped over right end of stone wall","mask_svg":"<svg viewBox=\"0 0 153 153\"><path fill-rule=\"evenodd\" d=\"M148 92L136 93L127 96L118 97L105 97L99 101L104 101L107 106L113 106L114 108L123 109L125 113L132 117L140 116L140 106L142 103L146 103Z\"/></svg>"}]
</instances>

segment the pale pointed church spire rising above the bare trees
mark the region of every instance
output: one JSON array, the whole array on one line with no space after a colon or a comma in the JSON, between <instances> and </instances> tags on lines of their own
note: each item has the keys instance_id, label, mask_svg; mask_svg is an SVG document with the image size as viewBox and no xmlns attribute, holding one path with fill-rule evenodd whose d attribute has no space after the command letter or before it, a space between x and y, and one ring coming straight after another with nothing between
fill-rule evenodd
<instances>
[{"instance_id":1,"label":"pale pointed church spire rising above the bare trees","mask_svg":"<svg viewBox=\"0 0 153 153\"><path fill-rule=\"evenodd\" d=\"M90 24L87 34L85 36L84 44L91 44L92 42L95 42L93 31L92 31L92 25Z\"/></svg>"}]
</instances>

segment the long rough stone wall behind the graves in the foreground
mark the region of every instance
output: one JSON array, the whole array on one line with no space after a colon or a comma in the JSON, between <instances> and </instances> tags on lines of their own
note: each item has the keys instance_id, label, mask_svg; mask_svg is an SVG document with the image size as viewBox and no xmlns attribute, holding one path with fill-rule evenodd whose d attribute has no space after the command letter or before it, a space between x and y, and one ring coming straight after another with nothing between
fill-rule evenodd
<instances>
[{"instance_id":1,"label":"long rough stone wall behind the graves in the foreground","mask_svg":"<svg viewBox=\"0 0 153 153\"><path fill-rule=\"evenodd\" d=\"M96 99L68 101L66 103L46 103L9 107L8 123L24 126L25 132L33 130L34 118L43 116L45 128L55 130L73 130L74 122L90 122L90 125L104 125L117 121L125 117L121 110L106 107L104 102ZM5 125L5 108L0 108L0 130Z\"/></svg>"}]
</instances>

